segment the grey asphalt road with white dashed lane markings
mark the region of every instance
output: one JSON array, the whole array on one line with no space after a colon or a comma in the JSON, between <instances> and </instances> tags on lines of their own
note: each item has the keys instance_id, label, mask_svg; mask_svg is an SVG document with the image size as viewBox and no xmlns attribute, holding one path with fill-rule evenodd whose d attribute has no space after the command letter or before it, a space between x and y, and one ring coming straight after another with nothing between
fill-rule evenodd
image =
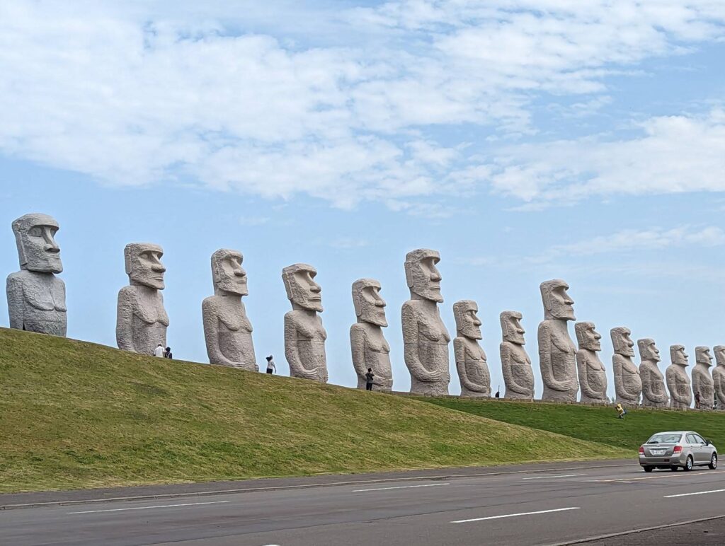
<instances>
[{"instance_id":1,"label":"grey asphalt road with white dashed lane markings","mask_svg":"<svg viewBox=\"0 0 725 546\"><path fill-rule=\"evenodd\" d=\"M0 544L552 545L724 515L725 470L645 474L632 461L5 510ZM592 544L662 544L723 521Z\"/></svg>"}]
</instances>

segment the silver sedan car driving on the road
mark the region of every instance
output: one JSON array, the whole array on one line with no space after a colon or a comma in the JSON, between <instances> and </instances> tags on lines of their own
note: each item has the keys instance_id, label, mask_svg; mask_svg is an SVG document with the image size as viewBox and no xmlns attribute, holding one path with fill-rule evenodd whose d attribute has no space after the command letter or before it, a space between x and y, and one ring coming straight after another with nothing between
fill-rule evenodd
<instances>
[{"instance_id":1,"label":"silver sedan car driving on the road","mask_svg":"<svg viewBox=\"0 0 725 546\"><path fill-rule=\"evenodd\" d=\"M718 466L718 450L697 432L678 430L658 432L639 446L639 465L645 472L653 469L692 470L693 466Z\"/></svg>"}]
</instances>

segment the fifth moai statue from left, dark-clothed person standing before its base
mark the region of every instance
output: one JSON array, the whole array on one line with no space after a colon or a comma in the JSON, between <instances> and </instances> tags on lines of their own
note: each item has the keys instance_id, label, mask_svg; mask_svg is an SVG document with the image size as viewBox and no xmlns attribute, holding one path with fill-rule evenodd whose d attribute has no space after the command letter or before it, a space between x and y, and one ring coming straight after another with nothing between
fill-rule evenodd
<instances>
[{"instance_id":1,"label":"fifth moai statue from left, dark-clothed person standing before its base","mask_svg":"<svg viewBox=\"0 0 725 546\"><path fill-rule=\"evenodd\" d=\"M380 295L380 282L374 279L358 279L352 283L352 304L357 322L350 327L352 366L357 374L357 388L365 388L365 374L373 370L376 390L392 390L393 371L390 366L390 345L383 328L388 326L385 317L385 300Z\"/></svg>"}]
</instances>

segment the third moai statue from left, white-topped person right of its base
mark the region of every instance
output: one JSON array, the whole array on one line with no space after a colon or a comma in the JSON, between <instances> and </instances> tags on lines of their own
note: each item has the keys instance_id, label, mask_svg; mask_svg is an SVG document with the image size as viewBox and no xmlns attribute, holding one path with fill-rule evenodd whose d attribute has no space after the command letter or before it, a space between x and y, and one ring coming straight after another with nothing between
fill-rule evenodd
<instances>
[{"instance_id":1,"label":"third moai statue from left, white-topped person right of its base","mask_svg":"<svg viewBox=\"0 0 725 546\"><path fill-rule=\"evenodd\" d=\"M241 298L249 294L244 257L239 251L221 248L212 254L214 295L202 302L204 340L210 364L259 371L254 357L252 323Z\"/></svg>"}]
</instances>

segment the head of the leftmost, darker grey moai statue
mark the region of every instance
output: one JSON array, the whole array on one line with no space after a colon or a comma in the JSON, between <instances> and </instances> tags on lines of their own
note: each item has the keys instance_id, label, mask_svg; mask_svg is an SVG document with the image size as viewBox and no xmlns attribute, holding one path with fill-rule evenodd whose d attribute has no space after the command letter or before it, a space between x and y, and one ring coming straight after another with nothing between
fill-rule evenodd
<instances>
[{"instance_id":1,"label":"head of the leftmost, darker grey moai statue","mask_svg":"<svg viewBox=\"0 0 725 546\"><path fill-rule=\"evenodd\" d=\"M12 222L20 269L60 273L60 248L55 242L58 222L47 214L25 214Z\"/></svg>"}]
</instances>

